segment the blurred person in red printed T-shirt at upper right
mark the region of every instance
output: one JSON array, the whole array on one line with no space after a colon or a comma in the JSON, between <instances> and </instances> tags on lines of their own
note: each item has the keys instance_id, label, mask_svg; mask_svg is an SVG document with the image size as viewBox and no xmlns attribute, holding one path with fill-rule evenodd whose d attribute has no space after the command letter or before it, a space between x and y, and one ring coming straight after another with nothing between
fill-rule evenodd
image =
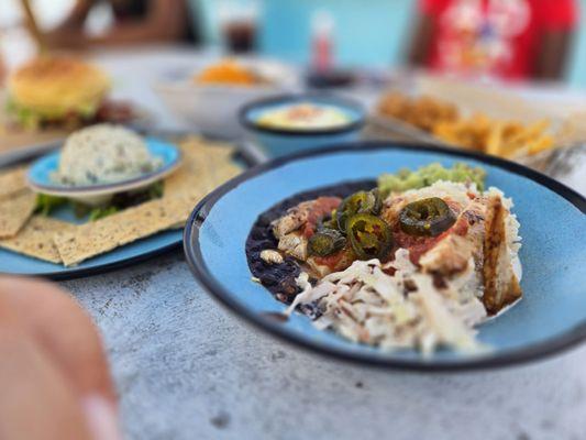
<instances>
[{"instance_id":1,"label":"blurred person in red printed T-shirt at upper right","mask_svg":"<svg viewBox=\"0 0 586 440\"><path fill-rule=\"evenodd\" d=\"M576 0L420 0L408 61L464 76L562 79Z\"/></svg>"}]
</instances>

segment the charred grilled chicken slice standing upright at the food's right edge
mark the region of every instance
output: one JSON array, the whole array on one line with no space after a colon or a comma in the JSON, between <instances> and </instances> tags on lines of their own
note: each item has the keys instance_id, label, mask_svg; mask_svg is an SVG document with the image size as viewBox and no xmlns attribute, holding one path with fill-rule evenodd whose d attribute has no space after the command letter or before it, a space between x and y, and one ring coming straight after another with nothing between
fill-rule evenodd
<instances>
[{"instance_id":1,"label":"charred grilled chicken slice standing upright at the food's right edge","mask_svg":"<svg viewBox=\"0 0 586 440\"><path fill-rule=\"evenodd\" d=\"M507 246L507 213L499 196L488 198L483 249L483 302L490 315L497 314L522 295Z\"/></svg>"}]
</instances>

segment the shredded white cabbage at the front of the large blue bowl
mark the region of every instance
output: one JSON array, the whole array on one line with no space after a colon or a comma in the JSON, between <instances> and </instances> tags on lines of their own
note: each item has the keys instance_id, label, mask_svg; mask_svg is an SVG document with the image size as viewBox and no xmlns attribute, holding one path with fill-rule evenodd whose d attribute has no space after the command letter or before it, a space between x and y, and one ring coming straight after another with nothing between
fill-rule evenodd
<instances>
[{"instance_id":1,"label":"shredded white cabbage at the front of the large blue bowl","mask_svg":"<svg viewBox=\"0 0 586 440\"><path fill-rule=\"evenodd\" d=\"M332 329L354 342L384 350L417 348L423 354L438 346L458 351L484 348L476 340L475 326L486 319L477 292L469 289L471 270L439 289L433 277L417 271L409 252L399 249L395 260L383 266L378 260L355 261L349 268L332 273L316 286L301 273L297 283L302 292L289 306L317 302L322 315L319 329ZM388 275L385 270L394 270Z\"/></svg>"}]
</instances>

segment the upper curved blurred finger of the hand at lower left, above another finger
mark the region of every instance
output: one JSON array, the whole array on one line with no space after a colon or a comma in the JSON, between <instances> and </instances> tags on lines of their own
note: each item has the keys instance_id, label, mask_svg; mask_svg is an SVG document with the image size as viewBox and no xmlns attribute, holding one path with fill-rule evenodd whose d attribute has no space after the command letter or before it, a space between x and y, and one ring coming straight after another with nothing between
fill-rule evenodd
<instances>
[{"instance_id":1,"label":"upper curved blurred finger of the hand at lower left, above another finger","mask_svg":"<svg viewBox=\"0 0 586 440\"><path fill-rule=\"evenodd\" d=\"M46 349L79 398L103 396L115 405L99 333L73 298L48 283L0 277L2 310L15 315L20 326Z\"/></svg>"}]
</instances>

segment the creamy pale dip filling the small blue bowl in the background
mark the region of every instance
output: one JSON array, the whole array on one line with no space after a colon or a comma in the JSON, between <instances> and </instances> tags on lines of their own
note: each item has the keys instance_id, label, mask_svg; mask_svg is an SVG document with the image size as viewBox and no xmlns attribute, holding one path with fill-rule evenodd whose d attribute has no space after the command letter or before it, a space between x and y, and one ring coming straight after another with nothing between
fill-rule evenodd
<instances>
[{"instance_id":1,"label":"creamy pale dip filling the small blue bowl in the background","mask_svg":"<svg viewBox=\"0 0 586 440\"><path fill-rule=\"evenodd\" d=\"M256 123L269 129L313 130L335 129L350 121L351 118L345 112L333 106L302 102L267 110Z\"/></svg>"}]
</instances>

